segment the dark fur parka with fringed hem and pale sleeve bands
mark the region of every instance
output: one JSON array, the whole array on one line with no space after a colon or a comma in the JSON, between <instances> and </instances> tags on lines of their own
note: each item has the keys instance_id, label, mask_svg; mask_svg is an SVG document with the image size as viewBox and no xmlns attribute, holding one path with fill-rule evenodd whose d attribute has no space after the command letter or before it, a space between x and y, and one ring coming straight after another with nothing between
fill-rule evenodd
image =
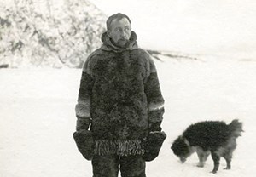
<instances>
[{"instance_id":1,"label":"dark fur parka with fringed hem and pale sleeve bands","mask_svg":"<svg viewBox=\"0 0 256 177\"><path fill-rule=\"evenodd\" d=\"M160 131L164 113L154 62L137 47L133 31L125 49L113 45L107 33L102 43L84 63L77 129L90 127L97 155L143 154L143 140L150 131Z\"/></svg>"}]
</instances>

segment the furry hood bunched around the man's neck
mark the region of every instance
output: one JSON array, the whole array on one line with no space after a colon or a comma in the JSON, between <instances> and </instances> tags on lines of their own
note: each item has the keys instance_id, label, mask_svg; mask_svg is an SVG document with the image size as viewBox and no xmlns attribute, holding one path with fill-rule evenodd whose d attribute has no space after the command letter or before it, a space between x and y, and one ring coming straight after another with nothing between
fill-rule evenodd
<instances>
[{"instance_id":1,"label":"furry hood bunched around the man's neck","mask_svg":"<svg viewBox=\"0 0 256 177\"><path fill-rule=\"evenodd\" d=\"M137 49L138 46L137 46L137 35L134 31L131 31L131 37L129 39L129 45L127 48L125 49L122 49L122 48L119 48L117 46L115 46L112 41L110 40L110 37L108 37L108 34L107 32L104 32L102 34L102 47L101 49L102 50L107 50L107 51L114 51L114 52L123 52L125 50L133 50L133 49Z\"/></svg>"}]
</instances>

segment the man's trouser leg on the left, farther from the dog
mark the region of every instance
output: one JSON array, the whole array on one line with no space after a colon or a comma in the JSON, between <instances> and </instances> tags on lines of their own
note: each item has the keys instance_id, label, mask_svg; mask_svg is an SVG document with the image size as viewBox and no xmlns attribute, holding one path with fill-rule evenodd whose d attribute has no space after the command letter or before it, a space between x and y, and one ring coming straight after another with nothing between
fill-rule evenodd
<instances>
[{"instance_id":1,"label":"man's trouser leg on the left, farther from the dog","mask_svg":"<svg viewBox=\"0 0 256 177\"><path fill-rule=\"evenodd\" d=\"M93 177L118 177L118 161L117 156L94 156L91 160Z\"/></svg>"}]
</instances>

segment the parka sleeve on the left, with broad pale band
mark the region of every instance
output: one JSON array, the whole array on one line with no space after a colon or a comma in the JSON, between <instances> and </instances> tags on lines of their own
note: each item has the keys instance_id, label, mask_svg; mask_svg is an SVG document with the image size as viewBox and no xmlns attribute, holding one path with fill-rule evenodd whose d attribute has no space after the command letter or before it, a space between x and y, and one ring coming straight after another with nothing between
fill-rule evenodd
<instances>
[{"instance_id":1,"label":"parka sleeve on the left, with broad pale band","mask_svg":"<svg viewBox=\"0 0 256 177\"><path fill-rule=\"evenodd\" d=\"M75 106L77 124L76 130L89 129L90 127L90 97L92 93L93 78L91 77L89 59L86 60L83 67L80 80L79 98Z\"/></svg>"}]
</instances>

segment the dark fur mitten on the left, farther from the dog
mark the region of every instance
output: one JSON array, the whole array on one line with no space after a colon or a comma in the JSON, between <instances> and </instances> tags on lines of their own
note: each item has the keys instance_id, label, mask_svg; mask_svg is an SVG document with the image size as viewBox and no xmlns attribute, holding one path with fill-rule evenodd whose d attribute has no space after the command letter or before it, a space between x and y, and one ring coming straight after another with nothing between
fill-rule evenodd
<instances>
[{"instance_id":1,"label":"dark fur mitten on the left, farther from the dog","mask_svg":"<svg viewBox=\"0 0 256 177\"><path fill-rule=\"evenodd\" d=\"M75 140L80 153L87 160L91 160L93 157L93 137L89 130L79 130L73 133L73 139Z\"/></svg>"}]
</instances>

